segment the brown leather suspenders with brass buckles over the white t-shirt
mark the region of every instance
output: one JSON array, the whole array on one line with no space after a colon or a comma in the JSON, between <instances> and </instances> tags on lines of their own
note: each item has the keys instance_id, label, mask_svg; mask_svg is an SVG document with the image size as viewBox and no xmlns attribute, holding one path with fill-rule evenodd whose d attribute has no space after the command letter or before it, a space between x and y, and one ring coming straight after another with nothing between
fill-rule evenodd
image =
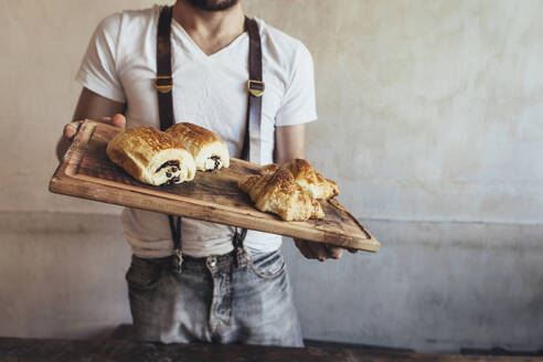
<instances>
[{"instance_id":1,"label":"brown leather suspenders with brass buckles over the white t-shirt","mask_svg":"<svg viewBox=\"0 0 543 362\"><path fill-rule=\"evenodd\" d=\"M173 119L173 79L171 76L171 20L172 8L164 7L160 12L157 35L157 88L160 129L166 130L174 124ZM262 95L265 91L262 71L262 43L258 25L254 19L245 17L245 29L249 36L249 81L247 82L247 119L245 121L245 137L242 148L242 159L260 163L260 119ZM181 217L168 215L173 247L179 258L178 272L181 270ZM243 241L246 228L238 232L235 228L232 243L236 253L243 252Z\"/></svg>"}]
</instances>

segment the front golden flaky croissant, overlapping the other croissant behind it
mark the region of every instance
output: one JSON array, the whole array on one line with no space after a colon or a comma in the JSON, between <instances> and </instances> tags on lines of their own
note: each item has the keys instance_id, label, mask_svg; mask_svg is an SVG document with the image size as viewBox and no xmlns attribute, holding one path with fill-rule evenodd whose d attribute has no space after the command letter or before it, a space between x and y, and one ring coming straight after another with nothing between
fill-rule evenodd
<instances>
[{"instance_id":1,"label":"front golden flaky croissant, overlapping the other croissant behind it","mask_svg":"<svg viewBox=\"0 0 543 362\"><path fill-rule=\"evenodd\" d=\"M324 219L320 203L309 196L287 168L278 168L273 174L253 174L238 182L256 209L272 212L285 221Z\"/></svg>"}]
</instances>

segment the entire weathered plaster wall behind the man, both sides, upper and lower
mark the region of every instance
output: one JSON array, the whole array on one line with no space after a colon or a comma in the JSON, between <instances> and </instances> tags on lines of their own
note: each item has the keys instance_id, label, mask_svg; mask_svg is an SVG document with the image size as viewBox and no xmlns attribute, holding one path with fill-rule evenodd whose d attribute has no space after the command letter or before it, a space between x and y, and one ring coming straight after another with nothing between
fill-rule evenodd
<instances>
[{"instance_id":1,"label":"entire weathered plaster wall behind the man, both sides, upper and lower","mask_svg":"<svg viewBox=\"0 0 543 362\"><path fill-rule=\"evenodd\" d=\"M243 1L312 52L308 157L383 246L319 264L286 243L306 337L541 349L543 1ZM47 182L94 28L152 3L0 0L0 336L129 322L119 221L92 215L118 207Z\"/></svg>"}]
</instances>

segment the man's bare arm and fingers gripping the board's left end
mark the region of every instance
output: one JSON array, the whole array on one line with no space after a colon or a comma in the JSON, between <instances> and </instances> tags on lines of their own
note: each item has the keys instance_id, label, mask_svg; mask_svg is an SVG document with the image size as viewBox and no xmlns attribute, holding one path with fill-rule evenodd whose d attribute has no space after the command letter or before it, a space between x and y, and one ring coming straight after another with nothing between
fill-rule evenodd
<instances>
[{"instance_id":1,"label":"man's bare arm and fingers gripping the board's left end","mask_svg":"<svg viewBox=\"0 0 543 362\"><path fill-rule=\"evenodd\" d=\"M125 104L105 98L87 88L81 92L79 100L75 107L72 123L64 126L63 135L56 145L56 157L62 159L77 129L81 120L86 118L108 123L115 127L125 128L126 118L121 115Z\"/></svg>"}]
</instances>

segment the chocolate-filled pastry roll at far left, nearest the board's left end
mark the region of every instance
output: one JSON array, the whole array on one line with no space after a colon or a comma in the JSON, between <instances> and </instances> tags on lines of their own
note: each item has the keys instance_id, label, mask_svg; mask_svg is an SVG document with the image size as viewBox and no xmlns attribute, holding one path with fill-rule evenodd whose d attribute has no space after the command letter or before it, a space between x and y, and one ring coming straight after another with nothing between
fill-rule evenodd
<instances>
[{"instance_id":1,"label":"chocolate-filled pastry roll at far left, nearest the board's left end","mask_svg":"<svg viewBox=\"0 0 543 362\"><path fill-rule=\"evenodd\" d=\"M137 127L116 135L107 156L136 180L161 185L194 179L194 159L184 147L152 127Z\"/></svg>"}]
</instances>

